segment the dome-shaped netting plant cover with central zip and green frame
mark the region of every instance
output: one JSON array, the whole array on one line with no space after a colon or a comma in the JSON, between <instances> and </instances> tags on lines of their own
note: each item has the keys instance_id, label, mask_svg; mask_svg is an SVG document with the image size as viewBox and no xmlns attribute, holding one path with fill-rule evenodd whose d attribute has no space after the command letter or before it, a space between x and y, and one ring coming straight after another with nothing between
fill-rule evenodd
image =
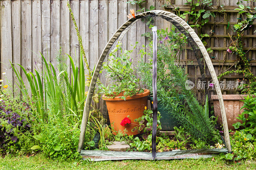
<instances>
[{"instance_id":1,"label":"dome-shaped netting plant cover with central zip and green frame","mask_svg":"<svg viewBox=\"0 0 256 170\"><path fill-rule=\"evenodd\" d=\"M83 119L85 159L198 158L228 152L220 97L208 68L212 63L188 29L164 13L130 19L102 53Z\"/></svg>"}]
</instances>

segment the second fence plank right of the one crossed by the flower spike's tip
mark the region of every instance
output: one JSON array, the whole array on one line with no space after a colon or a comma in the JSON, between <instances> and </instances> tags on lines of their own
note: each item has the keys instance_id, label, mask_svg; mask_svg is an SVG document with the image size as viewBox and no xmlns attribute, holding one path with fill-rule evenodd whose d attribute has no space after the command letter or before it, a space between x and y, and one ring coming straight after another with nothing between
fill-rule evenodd
<instances>
[{"instance_id":1,"label":"second fence plank right of the one crossed by the flower spike's tip","mask_svg":"<svg viewBox=\"0 0 256 170\"><path fill-rule=\"evenodd\" d=\"M89 0L89 64L93 69L99 56L99 6L98 0Z\"/></svg>"}]
</instances>

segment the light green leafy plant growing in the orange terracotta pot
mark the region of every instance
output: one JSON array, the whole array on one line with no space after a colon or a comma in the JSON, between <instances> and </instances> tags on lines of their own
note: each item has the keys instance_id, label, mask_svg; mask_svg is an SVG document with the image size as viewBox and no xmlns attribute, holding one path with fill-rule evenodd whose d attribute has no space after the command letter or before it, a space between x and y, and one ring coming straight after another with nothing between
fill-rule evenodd
<instances>
[{"instance_id":1,"label":"light green leafy plant growing in the orange terracotta pot","mask_svg":"<svg viewBox=\"0 0 256 170\"><path fill-rule=\"evenodd\" d=\"M106 76L110 78L111 83L107 86L100 84L101 93L113 98L123 94L121 98L126 99L127 96L144 92L139 86L140 79L136 78L132 68L132 58L130 55L135 47L136 45L133 46L132 50L123 51L122 43L118 42L116 47L112 49L108 62L103 64L102 69L107 72Z\"/></svg>"}]
</instances>

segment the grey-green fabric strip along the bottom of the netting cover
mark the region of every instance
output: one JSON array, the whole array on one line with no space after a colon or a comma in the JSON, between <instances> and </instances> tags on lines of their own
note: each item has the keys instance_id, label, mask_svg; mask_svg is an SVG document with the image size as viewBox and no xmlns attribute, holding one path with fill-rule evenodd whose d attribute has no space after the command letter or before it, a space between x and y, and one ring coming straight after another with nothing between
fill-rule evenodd
<instances>
[{"instance_id":1,"label":"grey-green fabric strip along the bottom of the netting cover","mask_svg":"<svg viewBox=\"0 0 256 170\"><path fill-rule=\"evenodd\" d=\"M228 153L227 148L223 149L197 149L185 151L157 152L156 159L200 159L211 158L215 154ZM123 159L147 159L153 160L151 152L118 152L118 151L81 151L81 156L85 160L123 160Z\"/></svg>"}]
</instances>

